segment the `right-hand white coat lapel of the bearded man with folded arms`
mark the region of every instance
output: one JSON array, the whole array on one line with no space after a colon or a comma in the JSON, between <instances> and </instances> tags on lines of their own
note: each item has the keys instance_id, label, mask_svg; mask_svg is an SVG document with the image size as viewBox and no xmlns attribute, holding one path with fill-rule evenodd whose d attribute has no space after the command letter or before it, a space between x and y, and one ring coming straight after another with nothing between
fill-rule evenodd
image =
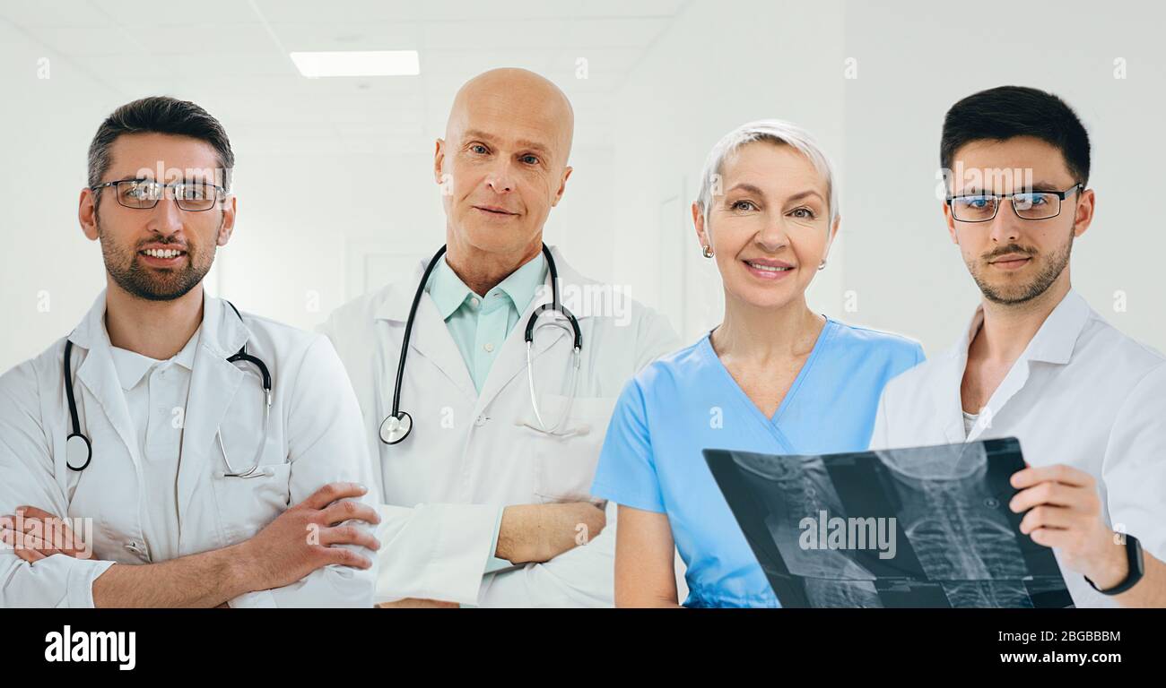
<instances>
[{"instance_id":1,"label":"right-hand white coat lapel of the bearded man with folded arms","mask_svg":"<svg viewBox=\"0 0 1166 688\"><path fill-rule=\"evenodd\" d=\"M222 300L204 297L203 324L198 348L195 350L194 368L190 371L190 391L187 396L184 426L182 431L182 460L178 464L178 523L183 523L198 483L206 478L206 462L218 454L215 434L231 407L236 392L246 374L226 359L234 355L250 338L250 332L234 311ZM273 385L278 381L272 381ZM257 437L262 433L262 419L257 418ZM227 448L230 452L230 448ZM236 453L238 454L238 453ZM247 461L251 453L245 452ZM236 466L237 469L250 467ZM223 470L224 463L216 467Z\"/></svg>"}]
</instances>

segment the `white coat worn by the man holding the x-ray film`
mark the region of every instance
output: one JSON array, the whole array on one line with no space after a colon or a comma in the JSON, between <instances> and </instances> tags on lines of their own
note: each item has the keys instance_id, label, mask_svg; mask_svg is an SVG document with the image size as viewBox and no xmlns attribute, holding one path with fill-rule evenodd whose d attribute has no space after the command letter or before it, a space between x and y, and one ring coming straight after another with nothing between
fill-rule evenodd
<instances>
[{"instance_id":1,"label":"white coat worn by the man holding the x-ray film","mask_svg":"<svg viewBox=\"0 0 1166 688\"><path fill-rule=\"evenodd\" d=\"M886 385L871 448L1016 437L1028 464L1093 475L1105 522L1166 558L1166 359L1070 290L965 434L960 385L982 322L977 308L955 347ZM1115 605L1081 574L1061 570L1077 607Z\"/></svg>"}]
</instances>

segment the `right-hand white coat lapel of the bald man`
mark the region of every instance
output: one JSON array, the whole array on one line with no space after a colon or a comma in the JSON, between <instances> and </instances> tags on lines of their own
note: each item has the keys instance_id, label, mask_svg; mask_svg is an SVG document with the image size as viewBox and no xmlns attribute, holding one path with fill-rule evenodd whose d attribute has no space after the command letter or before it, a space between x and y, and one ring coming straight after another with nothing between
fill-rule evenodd
<instances>
[{"instance_id":1,"label":"right-hand white coat lapel of the bald man","mask_svg":"<svg viewBox=\"0 0 1166 688\"><path fill-rule=\"evenodd\" d=\"M563 261L562 255L559 249L550 248L552 256L555 258L555 265L559 269L559 291L560 300L566 300L563 292L567 291L567 285L573 288L578 286L583 278L571 269L570 265ZM482 385L482 392L478 395L478 403L475 406L475 416L480 414L486 406L506 388L507 384L519 374L526 371L526 324L531 319L535 308L543 304L549 304L552 302L550 293L550 270L547 270L547 279L543 288L538 290L534 298L527 305L522 315L519 317L518 322L514 325L514 329L511 331L510 335L506 338L506 342L503 345L503 349L498 352L498 357L494 359L493 364L490 367L490 375L486 376L486 381ZM577 320L581 321L586 315L586 313L573 313ZM550 314L543 315L546 320L552 318ZM540 324L545 322L540 319ZM545 354L550 347L555 346L560 339L569 338L567 329L562 327L546 326L536 328L534 332L534 341L531 345L531 360L538 364L539 357ZM570 342L568 341L562 348L564 352L569 350ZM586 346L586 342L583 342ZM566 361L564 366L568 364Z\"/></svg>"}]
</instances>

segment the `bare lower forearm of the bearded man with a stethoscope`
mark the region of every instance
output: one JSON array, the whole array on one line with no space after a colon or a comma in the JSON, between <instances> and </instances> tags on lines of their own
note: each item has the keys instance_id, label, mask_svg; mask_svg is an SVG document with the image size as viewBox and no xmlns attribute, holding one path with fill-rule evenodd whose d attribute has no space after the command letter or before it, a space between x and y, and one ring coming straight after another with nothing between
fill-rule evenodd
<instances>
[{"instance_id":1,"label":"bare lower forearm of the bearded man with a stethoscope","mask_svg":"<svg viewBox=\"0 0 1166 688\"><path fill-rule=\"evenodd\" d=\"M93 581L94 607L218 607L250 593L238 545L141 566L115 563Z\"/></svg>"}]
</instances>

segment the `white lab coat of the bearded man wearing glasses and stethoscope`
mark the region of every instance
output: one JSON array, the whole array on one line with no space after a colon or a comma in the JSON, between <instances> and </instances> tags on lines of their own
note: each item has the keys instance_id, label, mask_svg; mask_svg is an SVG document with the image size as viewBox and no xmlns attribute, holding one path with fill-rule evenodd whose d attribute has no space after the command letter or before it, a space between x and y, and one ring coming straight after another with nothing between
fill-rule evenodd
<instances>
[{"instance_id":1,"label":"white lab coat of the bearded man wearing glasses and stethoscope","mask_svg":"<svg viewBox=\"0 0 1166 688\"><path fill-rule=\"evenodd\" d=\"M246 313L240 320L211 297L205 297L199 336L177 471L180 541L167 542L167 549L183 556L240 542L328 482L357 481L374 489L359 407L326 339ZM0 377L0 515L29 504L92 518L93 558L57 554L29 565L0 548L0 607L92 607L92 583L106 568L154 561L142 519L143 502L155 497L145 494L143 458L105 329L104 292L66 339L73 342L73 391L92 462L80 473L65 466L71 424L61 339ZM220 475L224 462L215 439L222 427L234 468L252 464L262 437L262 388L250 364L226 361L244 343L271 370L274 395L260 461L265 475L248 480ZM379 498L370 492L365 501ZM326 567L230 604L371 607L374 575Z\"/></svg>"}]
</instances>

